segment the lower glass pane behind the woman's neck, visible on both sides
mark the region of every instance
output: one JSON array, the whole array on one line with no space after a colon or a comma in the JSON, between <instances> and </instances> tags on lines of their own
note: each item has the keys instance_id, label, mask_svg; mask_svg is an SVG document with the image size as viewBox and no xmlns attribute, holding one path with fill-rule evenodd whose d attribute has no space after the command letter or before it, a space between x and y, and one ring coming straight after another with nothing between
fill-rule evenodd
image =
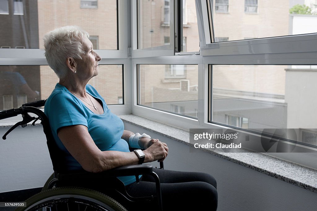
<instances>
[{"instance_id":1,"label":"lower glass pane behind the woman's neck, visible on both sides","mask_svg":"<svg viewBox=\"0 0 317 211\"><path fill-rule=\"evenodd\" d=\"M108 105L123 103L123 65L99 65L93 85ZM0 110L47 99L59 79L48 65L0 66Z\"/></svg>"}]
</instances>

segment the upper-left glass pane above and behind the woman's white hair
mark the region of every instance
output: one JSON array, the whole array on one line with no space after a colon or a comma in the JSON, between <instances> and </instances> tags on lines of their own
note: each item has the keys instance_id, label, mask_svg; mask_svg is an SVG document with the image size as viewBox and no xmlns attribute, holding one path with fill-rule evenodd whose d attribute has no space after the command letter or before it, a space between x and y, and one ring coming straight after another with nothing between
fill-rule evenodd
<instances>
[{"instance_id":1,"label":"upper-left glass pane above and behind the woman's white hair","mask_svg":"<svg viewBox=\"0 0 317 211\"><path fill-rule=\"evenodd\" d=\"M81 1L18 1L0 0L0 47L44 48L43 37L49 31L67 25L77 25L92 36L98 36L98 49L118 49L117 1L85 1L92 4L82 8ZM83 1L84 2L84 1ZM23 11L24 9L24 11ZM20 15L20 16L16 16Z\"/></svg>"}]
</instances>

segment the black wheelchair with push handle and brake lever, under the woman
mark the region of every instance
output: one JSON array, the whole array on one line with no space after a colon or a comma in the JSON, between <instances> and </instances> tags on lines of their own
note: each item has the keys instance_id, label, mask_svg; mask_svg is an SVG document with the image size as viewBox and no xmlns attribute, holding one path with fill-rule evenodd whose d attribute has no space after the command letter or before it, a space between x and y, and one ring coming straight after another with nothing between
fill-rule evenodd
<instances>
[{"instance_id":1,"label":"black wheelchair with push handle and brake lever, under the woman","mask_svg":"<svg viewBox=\"0 0 317 211\"><path fill-rule=\"evenodd\" d=\"M43 132L49 149L49 155L52 160L54 173L44 184L40 193L31 196L25 201L26 207L16 208L18 211L28 210L107 210L123 211L134 210L135 202L142 202L142 205L152 205L152 208L162 210L162 196L160 181L158 175L153 172L151 164L129 165L113 168L100 173L91 173L87 171L65 172L61 166L62 161L59 158L60 150L57 147L50 126L49 120L39 107L44 106L46 100L30 102L23 104L18 109L9 109L0 111L0 120L22 115L23 120L17 122L4 135L3 139L18 126L26 127L32 122L40 120L43 126ZM29 115L35 114L34 115ZM160 162L160 168L164 169L163 162ZM146 197L132 197L126 192L126 187L117 178L121 176L135 176L137 183L139 175L152 175L156 183L156 195ZM116 198L114 200L113 198Z\"/></svg>"}]
</instances>

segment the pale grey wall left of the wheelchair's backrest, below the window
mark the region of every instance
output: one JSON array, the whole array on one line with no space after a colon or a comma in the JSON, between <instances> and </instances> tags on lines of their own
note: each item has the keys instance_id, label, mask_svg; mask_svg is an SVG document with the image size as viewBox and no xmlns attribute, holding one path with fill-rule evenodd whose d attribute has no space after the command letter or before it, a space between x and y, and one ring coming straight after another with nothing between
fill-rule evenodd
<instances>
[{"instance_id":1,"label":"pale grey wall left of the wheelchair's backrest, below the window","mask_svg":"<svg viewBox=\"0 0 317 211\"><path fill-rule=\"evenodd\" d=\"M53 173L42 126L0 128L0 193L42 187Z\"/></svg>"}]
</instances>

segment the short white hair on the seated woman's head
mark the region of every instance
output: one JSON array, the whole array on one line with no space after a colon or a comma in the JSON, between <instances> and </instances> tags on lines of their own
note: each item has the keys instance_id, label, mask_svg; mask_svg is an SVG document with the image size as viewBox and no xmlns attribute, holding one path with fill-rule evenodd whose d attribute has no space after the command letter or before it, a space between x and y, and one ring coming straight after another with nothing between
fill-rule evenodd
<instances>
[{"instance_id":1,"label":"short white hair on the seated woman's head","mask_svg":"<svg viewBox=\"0 0 317 211\"><path fill-rule=\"evenodd\" d=\"M68 57L81 59L81 55L85 53L82 46L85 37L88 38L89 34L78 26L64 26L45 34L45 57L58 78L63 78L67 74Z\"/></svg>"}]
</instances>

